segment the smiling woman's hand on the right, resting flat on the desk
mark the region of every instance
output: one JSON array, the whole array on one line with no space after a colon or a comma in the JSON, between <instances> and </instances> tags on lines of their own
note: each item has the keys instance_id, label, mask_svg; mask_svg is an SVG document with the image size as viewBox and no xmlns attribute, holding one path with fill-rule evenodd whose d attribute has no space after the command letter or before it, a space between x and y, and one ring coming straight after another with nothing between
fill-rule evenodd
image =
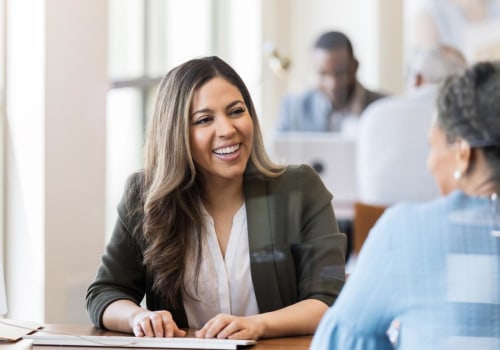
<instances>
[{"instance_id":1,"label":"smiling woman's hand on the right, resting flat on the desk","mask_svg":"<svg viewBox=\"0 0 500 350\"><path fill-rule=\"evenodd\" d=\"M198 338L253 339L263 333L263 324L258 316L238 317L218 314L209 320L202 329L195 332Z\"/></svg>"}]
</instances>

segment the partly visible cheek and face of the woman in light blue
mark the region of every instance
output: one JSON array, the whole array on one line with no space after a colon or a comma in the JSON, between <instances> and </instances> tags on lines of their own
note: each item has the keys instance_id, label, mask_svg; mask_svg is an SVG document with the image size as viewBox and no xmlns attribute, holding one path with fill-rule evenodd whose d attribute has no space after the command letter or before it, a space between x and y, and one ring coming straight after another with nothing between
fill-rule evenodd
<instances>
[{"instance_id":1,"label":"partly visible cheek and face of the woman in light blue","mask_svg":"<svg viewBox=\"0 0 500 350\"><path fill-rule=\"evenodd\" d=\"M456 147L448 143L445 133L436 123L429 130L429 145L427 168L434 176L441 194L448 194L457 188L457 180L453 178L457 164Z\"/></svg>"}]
</instances>

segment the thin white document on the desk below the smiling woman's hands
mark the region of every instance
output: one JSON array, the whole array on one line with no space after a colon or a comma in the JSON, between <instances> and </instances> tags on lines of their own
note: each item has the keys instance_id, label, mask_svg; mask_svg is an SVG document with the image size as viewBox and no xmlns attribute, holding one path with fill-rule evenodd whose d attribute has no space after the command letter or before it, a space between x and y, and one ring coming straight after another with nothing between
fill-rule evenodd
<instances>
[{"instance_id":1,"label":"thin white document on the desk below the smiling woman's hands","mask_svg":"<svg viewBox=\"0 0 500 350\"><path fill-rule=\"evenodd\" d=\"M104 335L31 334L24 339L33 345L63 345L89 347L163 348L163 349L240 349L256 344L255 340L201 339L201 338L150 338Z\"/></svg>"}]
</instances>

